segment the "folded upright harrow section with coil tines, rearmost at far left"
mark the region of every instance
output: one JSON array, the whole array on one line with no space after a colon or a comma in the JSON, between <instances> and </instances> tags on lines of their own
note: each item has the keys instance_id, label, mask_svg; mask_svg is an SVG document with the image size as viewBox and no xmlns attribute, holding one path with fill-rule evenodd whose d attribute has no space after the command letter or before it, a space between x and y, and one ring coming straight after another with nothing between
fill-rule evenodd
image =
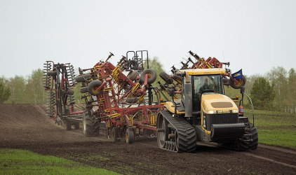
<instances>
[{"instance_id":1,"label":"folded upright harrow section with coil tines, rearmost at far left","mask_svg":"<svg viewBox=\"0 0 296 175\"><path fill-rule=\"evenodd\" d=\"M46 115L58 125L64 124L66 130L79 129L81 112L74 111L75 71L72 64L43 64L43 87L47 91Z\"/></svg>"}]
</instances>

